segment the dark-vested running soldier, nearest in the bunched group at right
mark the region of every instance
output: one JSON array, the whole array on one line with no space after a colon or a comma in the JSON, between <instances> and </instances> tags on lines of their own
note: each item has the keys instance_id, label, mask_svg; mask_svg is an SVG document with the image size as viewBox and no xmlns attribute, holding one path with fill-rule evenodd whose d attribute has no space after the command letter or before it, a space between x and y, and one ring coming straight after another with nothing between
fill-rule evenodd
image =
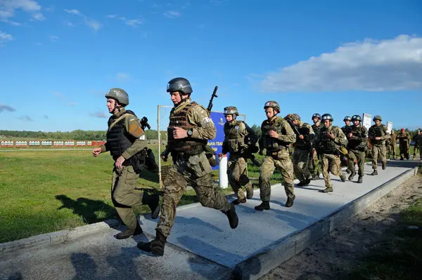
<instances>
[{"instance_id":1,"label":"dark-vested running soldier, nearest in the bunched group at right","mask_svg":"<svg viewBox=\"0 0 422 280\"><path fill-rule=\"evenodd\" d=\"M315 147L321 154L322 175L326 188L320 192L333 192L333 184L331 183L330 174L340 176L345 182L346 176L340 168L340 152L339 149L347 145L347 139L343 131L338 126L333 126L333 116L331 114L323 114L321 116L323 128L316 135ZM329 170L328 170L329 168Z\"/></svg>"}]
</instances>

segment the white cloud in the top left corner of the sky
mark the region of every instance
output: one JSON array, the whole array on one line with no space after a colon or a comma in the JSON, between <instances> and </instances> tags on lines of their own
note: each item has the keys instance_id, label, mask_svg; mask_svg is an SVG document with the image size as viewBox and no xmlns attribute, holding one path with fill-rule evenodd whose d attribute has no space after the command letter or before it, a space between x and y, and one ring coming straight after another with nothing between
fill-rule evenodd
<instances>
[{"instance_id":1,"label":"white cloud in the top left corner of the sky","mask_svg":"<svg viewBox=\"0 0 422 280\"><path fill-rule=\"evenodd\" d=\"M0 20L11 22L16 10L23 10L31 15L32 20L45 20L41 6L33 0L0 0ZM18 22L11 22L16 25Z\"/></svg>"}]
</instances>

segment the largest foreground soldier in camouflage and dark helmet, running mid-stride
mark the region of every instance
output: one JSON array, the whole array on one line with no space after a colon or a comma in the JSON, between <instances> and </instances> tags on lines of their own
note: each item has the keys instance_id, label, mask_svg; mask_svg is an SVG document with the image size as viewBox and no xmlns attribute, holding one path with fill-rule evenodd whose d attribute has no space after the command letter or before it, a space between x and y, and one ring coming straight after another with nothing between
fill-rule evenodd
<instances>
[{"instance_id":1,"label":"largest foreground soldier in camouflage and dark helmet, running mid-stride","mask_svg":"<svg viewBox=\"0 0 422 280\"><path fill-rule=\"evenodd\" d=\"M212 187L212 169L204 149L207 140L215 138L217 130L207 109L191 101L192 92L191 83L185 78L174 78L167 84L167 93L170 93L174 107L167 128L168 144L161 157L167 161L171 153L174 165L163 182L161 218L155 228L155 239L138 244L139 249L154 255L164 254L177 204L188 184L195 190L200 204L222 211L229 218L232 229L238 226L234 204Z\"/></svg>"}]
</instances>

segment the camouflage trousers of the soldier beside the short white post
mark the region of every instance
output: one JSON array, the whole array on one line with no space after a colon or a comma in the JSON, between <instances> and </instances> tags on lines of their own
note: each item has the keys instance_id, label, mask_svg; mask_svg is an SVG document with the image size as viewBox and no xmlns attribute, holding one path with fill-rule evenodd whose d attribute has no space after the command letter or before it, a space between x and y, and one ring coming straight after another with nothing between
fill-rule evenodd
<instances>
[{"instance_id":1,"label":"camouflage trousers of the soldier beside the short white post","mask_svg":"<svg viewBox=\"0 0 422 280\"><path fill-rule=\"evenodd\" d=\"M227 163L227 175L231 189L233 189L239 200L245 199L245 192L242 186L245 186L248 192L253 192L252 182L246 175L246 167L246 161L243 157L230 154L229 162Z\"/></svg>"}]
</instances>

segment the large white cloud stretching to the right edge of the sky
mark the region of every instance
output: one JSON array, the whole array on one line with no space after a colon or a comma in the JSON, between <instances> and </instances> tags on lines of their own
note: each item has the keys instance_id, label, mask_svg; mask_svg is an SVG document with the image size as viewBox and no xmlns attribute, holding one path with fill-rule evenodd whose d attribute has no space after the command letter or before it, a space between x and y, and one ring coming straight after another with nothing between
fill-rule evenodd
<instances>
[{"instance_id":1,"label":"large white cloud stretching to the right edge of the sky","mask_svg":"<svg viewBox=\"0 0 422 280\"><path fill-rule=\"evenodd\" d=\"M422 88L422 38L344 44L267 74L264 92L411 91Z\"/></svg>"}]
</instances>

